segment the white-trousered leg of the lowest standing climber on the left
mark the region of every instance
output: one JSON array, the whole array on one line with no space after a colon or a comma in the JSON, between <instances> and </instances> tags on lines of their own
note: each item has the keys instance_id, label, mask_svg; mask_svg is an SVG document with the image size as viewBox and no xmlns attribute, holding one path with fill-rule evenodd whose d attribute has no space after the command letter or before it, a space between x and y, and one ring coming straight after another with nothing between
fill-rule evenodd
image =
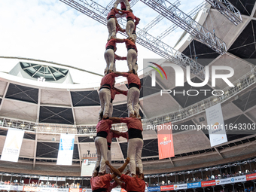
<instances>
[{"instance_id":1,"label":"white-trousered leg of the lowest standing climber on the left","mask_svg":"<svg viewBox=\"0 0 256 192\"><path fill-rule=\"evenodd\" d=\"M98 139L99 151L101 154L99 172L105 172L105 161L108 160L108 144L104 137L96 137Z\"/></svg>"}]
</instances>

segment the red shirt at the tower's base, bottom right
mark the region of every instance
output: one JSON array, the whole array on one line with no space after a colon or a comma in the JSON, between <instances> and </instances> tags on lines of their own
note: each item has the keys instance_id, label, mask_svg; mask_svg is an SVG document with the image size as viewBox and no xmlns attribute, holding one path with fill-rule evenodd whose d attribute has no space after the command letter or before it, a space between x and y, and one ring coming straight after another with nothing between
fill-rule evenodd
<instances>
[{"instance_id":1,"label":"red shirt at the tower's base, bottom right","mask_svg":"<svg viewBox=\"0 0 256 192\"><path fill-rule=\"evenodd\" d=\"M145 181L138 177L130 177L122 174L120 179L126 183L127 191L145 192Z\"/></svg>"}]
</instances>

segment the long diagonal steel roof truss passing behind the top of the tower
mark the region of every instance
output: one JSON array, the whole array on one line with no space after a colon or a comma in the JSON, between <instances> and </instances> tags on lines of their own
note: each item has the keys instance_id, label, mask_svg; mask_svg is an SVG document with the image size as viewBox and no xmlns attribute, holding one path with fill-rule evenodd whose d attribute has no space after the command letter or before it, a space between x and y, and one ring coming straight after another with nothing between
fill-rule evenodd
<instances>
[{"instance_id":1,"label":"long diagonal steel roof truss passing behind the top of the tower","mask_svg":"<svg viewBox=\"0 0 256 192\"><path fill-rule=\"evenodd\" d=\"M87 15L88 17L93 18L93 20L102 23L103 25L107 25L107 20L105 15L102 12L105 10L104 7L97 4L96 2L90 0L59 0L61 2L66 3L72 8L80 11L81 13ZM119 25L125 29L126 28L126 20L123 18L117 19ZM200 65L200 63L190 59L188 56L185 56L183 53L178 52L178 50L173 49L168 44L163 43L162 41L154 38L154 36L148 34L148 32L143 32L137 27L139 31L137 33L137 43L142 46L148 48L148 50L152 50L154 53L157 53L163 58L168 59L170 62L174 62L178 66L185 68L186 66L190 66L191 73L197 75L198 77L204 79L205 72L204 67ZM125 33L122 33L126 36Z\"/></svg>"}]
</instances>

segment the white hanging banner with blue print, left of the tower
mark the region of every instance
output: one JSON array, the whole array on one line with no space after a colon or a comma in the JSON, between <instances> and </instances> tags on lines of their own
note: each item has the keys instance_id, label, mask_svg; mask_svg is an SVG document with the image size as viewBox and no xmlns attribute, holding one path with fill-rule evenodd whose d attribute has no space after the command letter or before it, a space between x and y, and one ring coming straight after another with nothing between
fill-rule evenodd
<instances>
[{"instance_id":1,"label":"white hanging banner with blue print, left of the tower","mask_svg":"<svg viewBox=\"0 0 256 192\"><path fill-rule=\"evenodd\" d=\"M57 165L72 166L75 135L61 134Z\"/></svg>"}]
</instances>

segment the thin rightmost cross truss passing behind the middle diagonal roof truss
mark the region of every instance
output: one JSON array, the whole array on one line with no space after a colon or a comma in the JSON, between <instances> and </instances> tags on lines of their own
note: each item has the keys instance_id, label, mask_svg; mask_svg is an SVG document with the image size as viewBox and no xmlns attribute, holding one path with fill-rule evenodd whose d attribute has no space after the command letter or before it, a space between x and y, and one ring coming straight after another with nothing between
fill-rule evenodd
<instances>
[{"instance_id":1,"label":"thin rightmost cross truss passing behind the middle diagonal roof truss","mask_svg":"<svg viewBox=\"0 0 256 192\"><path fill-rule=\"evenodd\" d=\"M194 8L193 10L191 10L187 15L189 15L189 17L191 17L191 18L194 18L200 10L202 10L203 8L206 7L206 5L208 5L207 2L200 3L200 5L197 5L197 7ZM176 26L175 24L172 24L172 26L169 26L168 29L166 29L160 35L158 35L157 38L161 40L177 28L178 28L178 26Z\"/></svg>"}]
</instances>

